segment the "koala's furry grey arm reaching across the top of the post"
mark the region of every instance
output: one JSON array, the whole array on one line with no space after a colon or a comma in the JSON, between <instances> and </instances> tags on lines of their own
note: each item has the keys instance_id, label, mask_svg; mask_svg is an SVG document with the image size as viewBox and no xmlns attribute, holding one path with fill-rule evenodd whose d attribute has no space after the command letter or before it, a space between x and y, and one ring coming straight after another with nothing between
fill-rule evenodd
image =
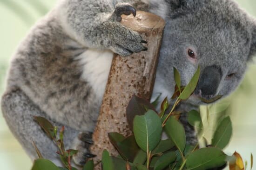
<instances>
[{"instance_id":1,"label":"koala's furry grey arm reaching across the top of the post","mask_svg":"<svg viewBox=\"0 0 256 170\"><path fill-rule=\"evenodd\" d=\"M114 0L67 0L58 8L63 29L86 47L110 49L121 56L146 50L141 36L121 25L121 14L135 8Z\"/></svg>"}]
</instances>

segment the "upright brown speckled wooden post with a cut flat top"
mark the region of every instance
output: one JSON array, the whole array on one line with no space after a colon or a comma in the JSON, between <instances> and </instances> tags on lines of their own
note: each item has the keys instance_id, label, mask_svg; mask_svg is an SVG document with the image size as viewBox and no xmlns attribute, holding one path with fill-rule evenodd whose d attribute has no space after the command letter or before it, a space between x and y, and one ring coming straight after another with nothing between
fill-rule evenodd
<instances>
[{"instance_id":1,"label":"upright brown speckled wooden post with a cut flat top","mask_svg":"<svg viewBox=\"0 0 256 170\"><path fill-rule=\"evenodd\" d=\"M101 160L104 149L114 156L118 154L108 139L108 132L119 132L124 136L132 133L126 119L128 101L133 94L149 100L155 82L164 20L152 13L139 11L136 17L123 15L121 24L139 32L142 38L148 41L146 44L148 50L128 57L114 54L100 115L93 134L94 145L90 148L91 152L97 155L94 162Z\"/></svg>"}]
</instances>

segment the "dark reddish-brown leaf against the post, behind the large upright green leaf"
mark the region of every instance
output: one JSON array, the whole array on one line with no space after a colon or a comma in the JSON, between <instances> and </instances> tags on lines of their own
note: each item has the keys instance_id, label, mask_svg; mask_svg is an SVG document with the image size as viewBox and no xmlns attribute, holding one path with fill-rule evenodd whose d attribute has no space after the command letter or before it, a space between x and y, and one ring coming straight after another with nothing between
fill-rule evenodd
<instances>
[{"instance_id":1,"label":"dark reddish-brown leaf against the post, behind the large upright green leaf","mask_svg":"<svg viewBox=\"0 0 256 170\"><path fill-rule=\"evenodd\" d=\"M126 117L131 130L135 115L144 115L148 109L155 111L155 107L149 101L135 95L132 96L126 108Z\"/></svg>"}]
</instances>

